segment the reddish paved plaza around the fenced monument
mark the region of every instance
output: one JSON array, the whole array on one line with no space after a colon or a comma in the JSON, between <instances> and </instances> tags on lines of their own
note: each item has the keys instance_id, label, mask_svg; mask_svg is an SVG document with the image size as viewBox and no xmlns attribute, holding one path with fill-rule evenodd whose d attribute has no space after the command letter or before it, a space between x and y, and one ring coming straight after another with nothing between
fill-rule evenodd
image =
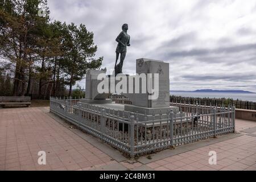
<instances>
[{"instance_id":1,"label":"reddish paved plaza around the fenced monument","mask_svg":"<svg viewBox=\"0 0 256 182\"><path fill-rule=\"evenodd\" d=\"M0 170L256 170L256 122L236 134L127 160L121 152L49 113L49 107L0 109ZM46 165L38 152L46 152ZM210 165L209 151L217 152Z\"/></svg>"}]
</instances>

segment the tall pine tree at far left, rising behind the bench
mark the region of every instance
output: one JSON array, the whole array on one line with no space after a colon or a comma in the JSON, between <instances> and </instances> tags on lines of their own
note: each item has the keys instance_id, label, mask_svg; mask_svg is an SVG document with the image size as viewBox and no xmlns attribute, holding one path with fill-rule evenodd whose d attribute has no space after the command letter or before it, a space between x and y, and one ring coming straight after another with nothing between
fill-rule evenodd
<instances>
[{"instance_id":1,"label":"tall pine tree at far left, rising behind the bench","mask_svg":"<svg viewBox=\"0 0 256 182\"><path fill-rule=\"evenodd\" d=\"M1 55L14 64L14 96L24 95L28 73L28 55L33 52L41 31L38 27L47 23L47 17L39 17L40 3L46 0L1 0L0 41Z\"/></svg>"}]
</instances>

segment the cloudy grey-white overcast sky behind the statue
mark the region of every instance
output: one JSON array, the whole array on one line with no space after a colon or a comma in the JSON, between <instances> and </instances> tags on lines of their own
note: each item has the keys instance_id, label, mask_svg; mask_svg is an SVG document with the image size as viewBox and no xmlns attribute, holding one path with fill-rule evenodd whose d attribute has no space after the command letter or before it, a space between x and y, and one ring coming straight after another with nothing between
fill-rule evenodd
<instances>
[{"instance_id":1,"label":"cloudy grey-white overcast sky behind the statue","mask_svg":"<svg viewBox=\"0 0 256 182\"><path fill-rule=\"evenodd\" d=\"M256 92L256 0L48 0L48 6L52 19L94 32L103 68L113 69L115 38L127 23L123 73L135 73L136 59L145 57L170 63L170 90Z\"/></svg>"}]
</instances>

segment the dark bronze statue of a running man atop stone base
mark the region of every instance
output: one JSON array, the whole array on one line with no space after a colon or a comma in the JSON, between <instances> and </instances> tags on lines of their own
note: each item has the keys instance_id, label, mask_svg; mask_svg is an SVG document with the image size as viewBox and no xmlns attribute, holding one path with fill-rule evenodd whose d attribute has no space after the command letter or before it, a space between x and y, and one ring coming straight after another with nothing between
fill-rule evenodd
<instances>
[{"instance_id":1,"label":"dark bronze statue of a running man atop stone base","mask_svg":"<svg viewBox=\"0 0 256 182\"><path fill-rule=\"evenodd\" d=\"M116 59L115 59L115 75L122 73L123 68L123 60L125 60L126 56L126 46L130 46L130 35L127 34L128 24L123 24L122 32L117 36L115 41L118 42L117 49L115 50ZM120 63L117 65L117 60L120 56Z\"/></svg>"}]
</instances>

